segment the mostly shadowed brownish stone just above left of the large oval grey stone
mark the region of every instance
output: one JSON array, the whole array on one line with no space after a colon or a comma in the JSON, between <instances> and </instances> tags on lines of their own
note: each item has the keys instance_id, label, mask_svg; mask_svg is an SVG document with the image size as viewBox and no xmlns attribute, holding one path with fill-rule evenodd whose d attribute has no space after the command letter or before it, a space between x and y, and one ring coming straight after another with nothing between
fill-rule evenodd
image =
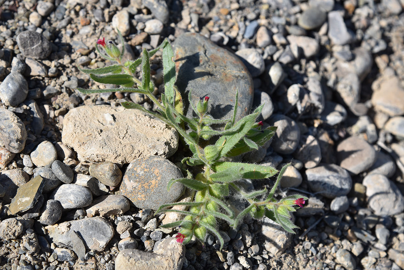
<instances>
[{"instance_id":1,"label":"mostly shadowed brownish stone just above left of the large oval grey stone","mask_svg":"<svg viewBox=\"0 0 404 270\"><path fill-rule=\"evenodd\" d=\"M313 135L303 135L294 156L303 162L306 169L314 168L321 160L320 144Z\"/></svg>"}]
</instances>

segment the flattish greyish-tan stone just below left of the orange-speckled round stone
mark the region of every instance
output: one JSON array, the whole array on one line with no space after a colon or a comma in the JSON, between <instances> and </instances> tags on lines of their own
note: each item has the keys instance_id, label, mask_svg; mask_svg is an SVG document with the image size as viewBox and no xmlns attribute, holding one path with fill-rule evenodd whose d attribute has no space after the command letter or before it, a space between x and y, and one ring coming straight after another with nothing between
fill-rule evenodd
<instances>
[{"instance_id":1,"label":"flattish greyish-tan stone just below left of the orange-speckled round stone","mask_svg":"<svg viewBox=\"0 0 404 270\"><path fill-rule=\"evenodd\" d=\"M99 196L86 208L87 215L100 215L101 217L111 215L122 215L129 210L129 200L122 195Z\"/></svg>"}]
</instances>

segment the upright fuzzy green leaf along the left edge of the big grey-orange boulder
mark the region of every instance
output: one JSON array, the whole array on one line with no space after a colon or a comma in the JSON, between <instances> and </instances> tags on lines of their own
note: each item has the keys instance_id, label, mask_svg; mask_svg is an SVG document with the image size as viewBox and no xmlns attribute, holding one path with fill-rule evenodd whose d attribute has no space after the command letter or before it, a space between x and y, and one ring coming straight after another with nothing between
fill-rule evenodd
<instances>
[{"instance_id":1,"label":"upright fuzzy green leaf along the left edge of the big grey-orange boulder","mask_svg":"<svg viewBox=\"0 0 404 270\"><path fill-rule=\"evenodd\" d=\"M168 99L168 103L174 104L174 83L175 83L175 63L173 61L174 53L170 43L166 39L166 44L163 46L163 78L164 78L164 93Z\"/></svg>"}]
</instances>

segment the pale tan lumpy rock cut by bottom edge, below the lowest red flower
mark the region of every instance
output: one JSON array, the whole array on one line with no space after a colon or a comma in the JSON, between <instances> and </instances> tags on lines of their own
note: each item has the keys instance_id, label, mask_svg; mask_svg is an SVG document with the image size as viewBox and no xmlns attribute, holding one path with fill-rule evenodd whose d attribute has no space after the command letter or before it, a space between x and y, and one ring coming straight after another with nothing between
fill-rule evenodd
<instances>
[{"instance_id":1,"label":"pale tan lumpy rock cut by bottom edge, below the lowest red flower","mask_svg":"<svg viewBox=\"0 0 404 270\"><path fill-rule=\"evenodd\" d=\"M151 266L155 270L181 270L185 258L185 246L174 237L166 238L151 253L137 249L124 249L115 259L115 270L143 270Z\"/></svg>"}]
</instances>

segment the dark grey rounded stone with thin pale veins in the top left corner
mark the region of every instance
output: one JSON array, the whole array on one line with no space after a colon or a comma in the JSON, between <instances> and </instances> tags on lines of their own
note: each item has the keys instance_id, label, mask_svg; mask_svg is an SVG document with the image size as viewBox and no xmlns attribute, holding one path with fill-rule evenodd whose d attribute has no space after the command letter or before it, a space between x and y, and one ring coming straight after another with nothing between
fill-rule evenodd
<instances>
[{"instance_id":1,"label":"dark grey rounded stone with thin pale veins in the top left corner","mask_svg":"<svg viewBox=\"0 0 404 270\"><path fill-rule=\"evenodd\" d=\"M17 44L24 57L44 59L51 53L50 42L34 31L23 31L17 36Z\"/></svg>"}]
</instances>

